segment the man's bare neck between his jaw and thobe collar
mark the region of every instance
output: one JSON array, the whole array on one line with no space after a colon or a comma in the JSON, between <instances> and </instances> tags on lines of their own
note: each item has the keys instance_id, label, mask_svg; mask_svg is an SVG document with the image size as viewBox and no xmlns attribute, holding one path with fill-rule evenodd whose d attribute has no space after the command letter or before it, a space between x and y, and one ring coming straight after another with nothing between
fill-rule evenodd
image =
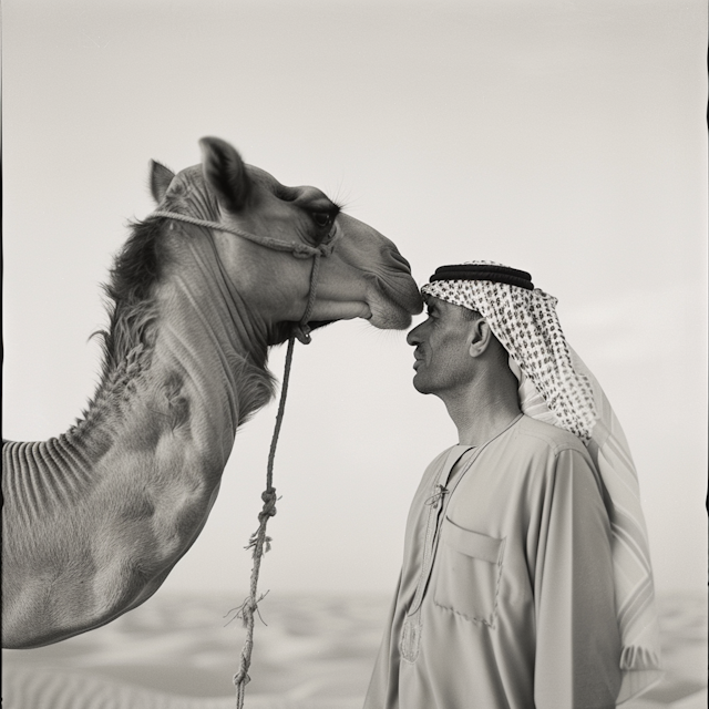
<instances>
[{"instance_id":1,"label":"man's bare neck between his jaw and thobe collar","mask_svg":"<svg viewBox=\"0 0 709 709\"><path fill-rule=\"evenodd\" d=\"M461 444L483 445L520 415L517 380L507 373L493 381L476 380L455 395L441 397Z\"/></svg>"}]
</instances>

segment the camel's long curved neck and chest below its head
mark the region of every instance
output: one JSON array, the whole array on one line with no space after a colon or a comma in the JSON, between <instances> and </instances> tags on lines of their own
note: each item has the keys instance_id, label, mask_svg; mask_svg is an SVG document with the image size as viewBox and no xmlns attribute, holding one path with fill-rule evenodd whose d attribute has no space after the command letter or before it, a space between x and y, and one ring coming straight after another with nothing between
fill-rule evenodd
<instances>
[{"instance_id":1,"label":"camel's long curved neck and chest below its head","mask_svg":"<svg viewBox=\"0 0 709 709\"><path fill-rule=\"evenodd\" d=\"M271 395L266 333L239 315L210 240L185 239L173 256L154 307L131 311L142 335L112 328L117 363L84 420L3 446L9 647L69 637L150 597L205 524L236 428Z\"/></svg>"}]
</instances>

